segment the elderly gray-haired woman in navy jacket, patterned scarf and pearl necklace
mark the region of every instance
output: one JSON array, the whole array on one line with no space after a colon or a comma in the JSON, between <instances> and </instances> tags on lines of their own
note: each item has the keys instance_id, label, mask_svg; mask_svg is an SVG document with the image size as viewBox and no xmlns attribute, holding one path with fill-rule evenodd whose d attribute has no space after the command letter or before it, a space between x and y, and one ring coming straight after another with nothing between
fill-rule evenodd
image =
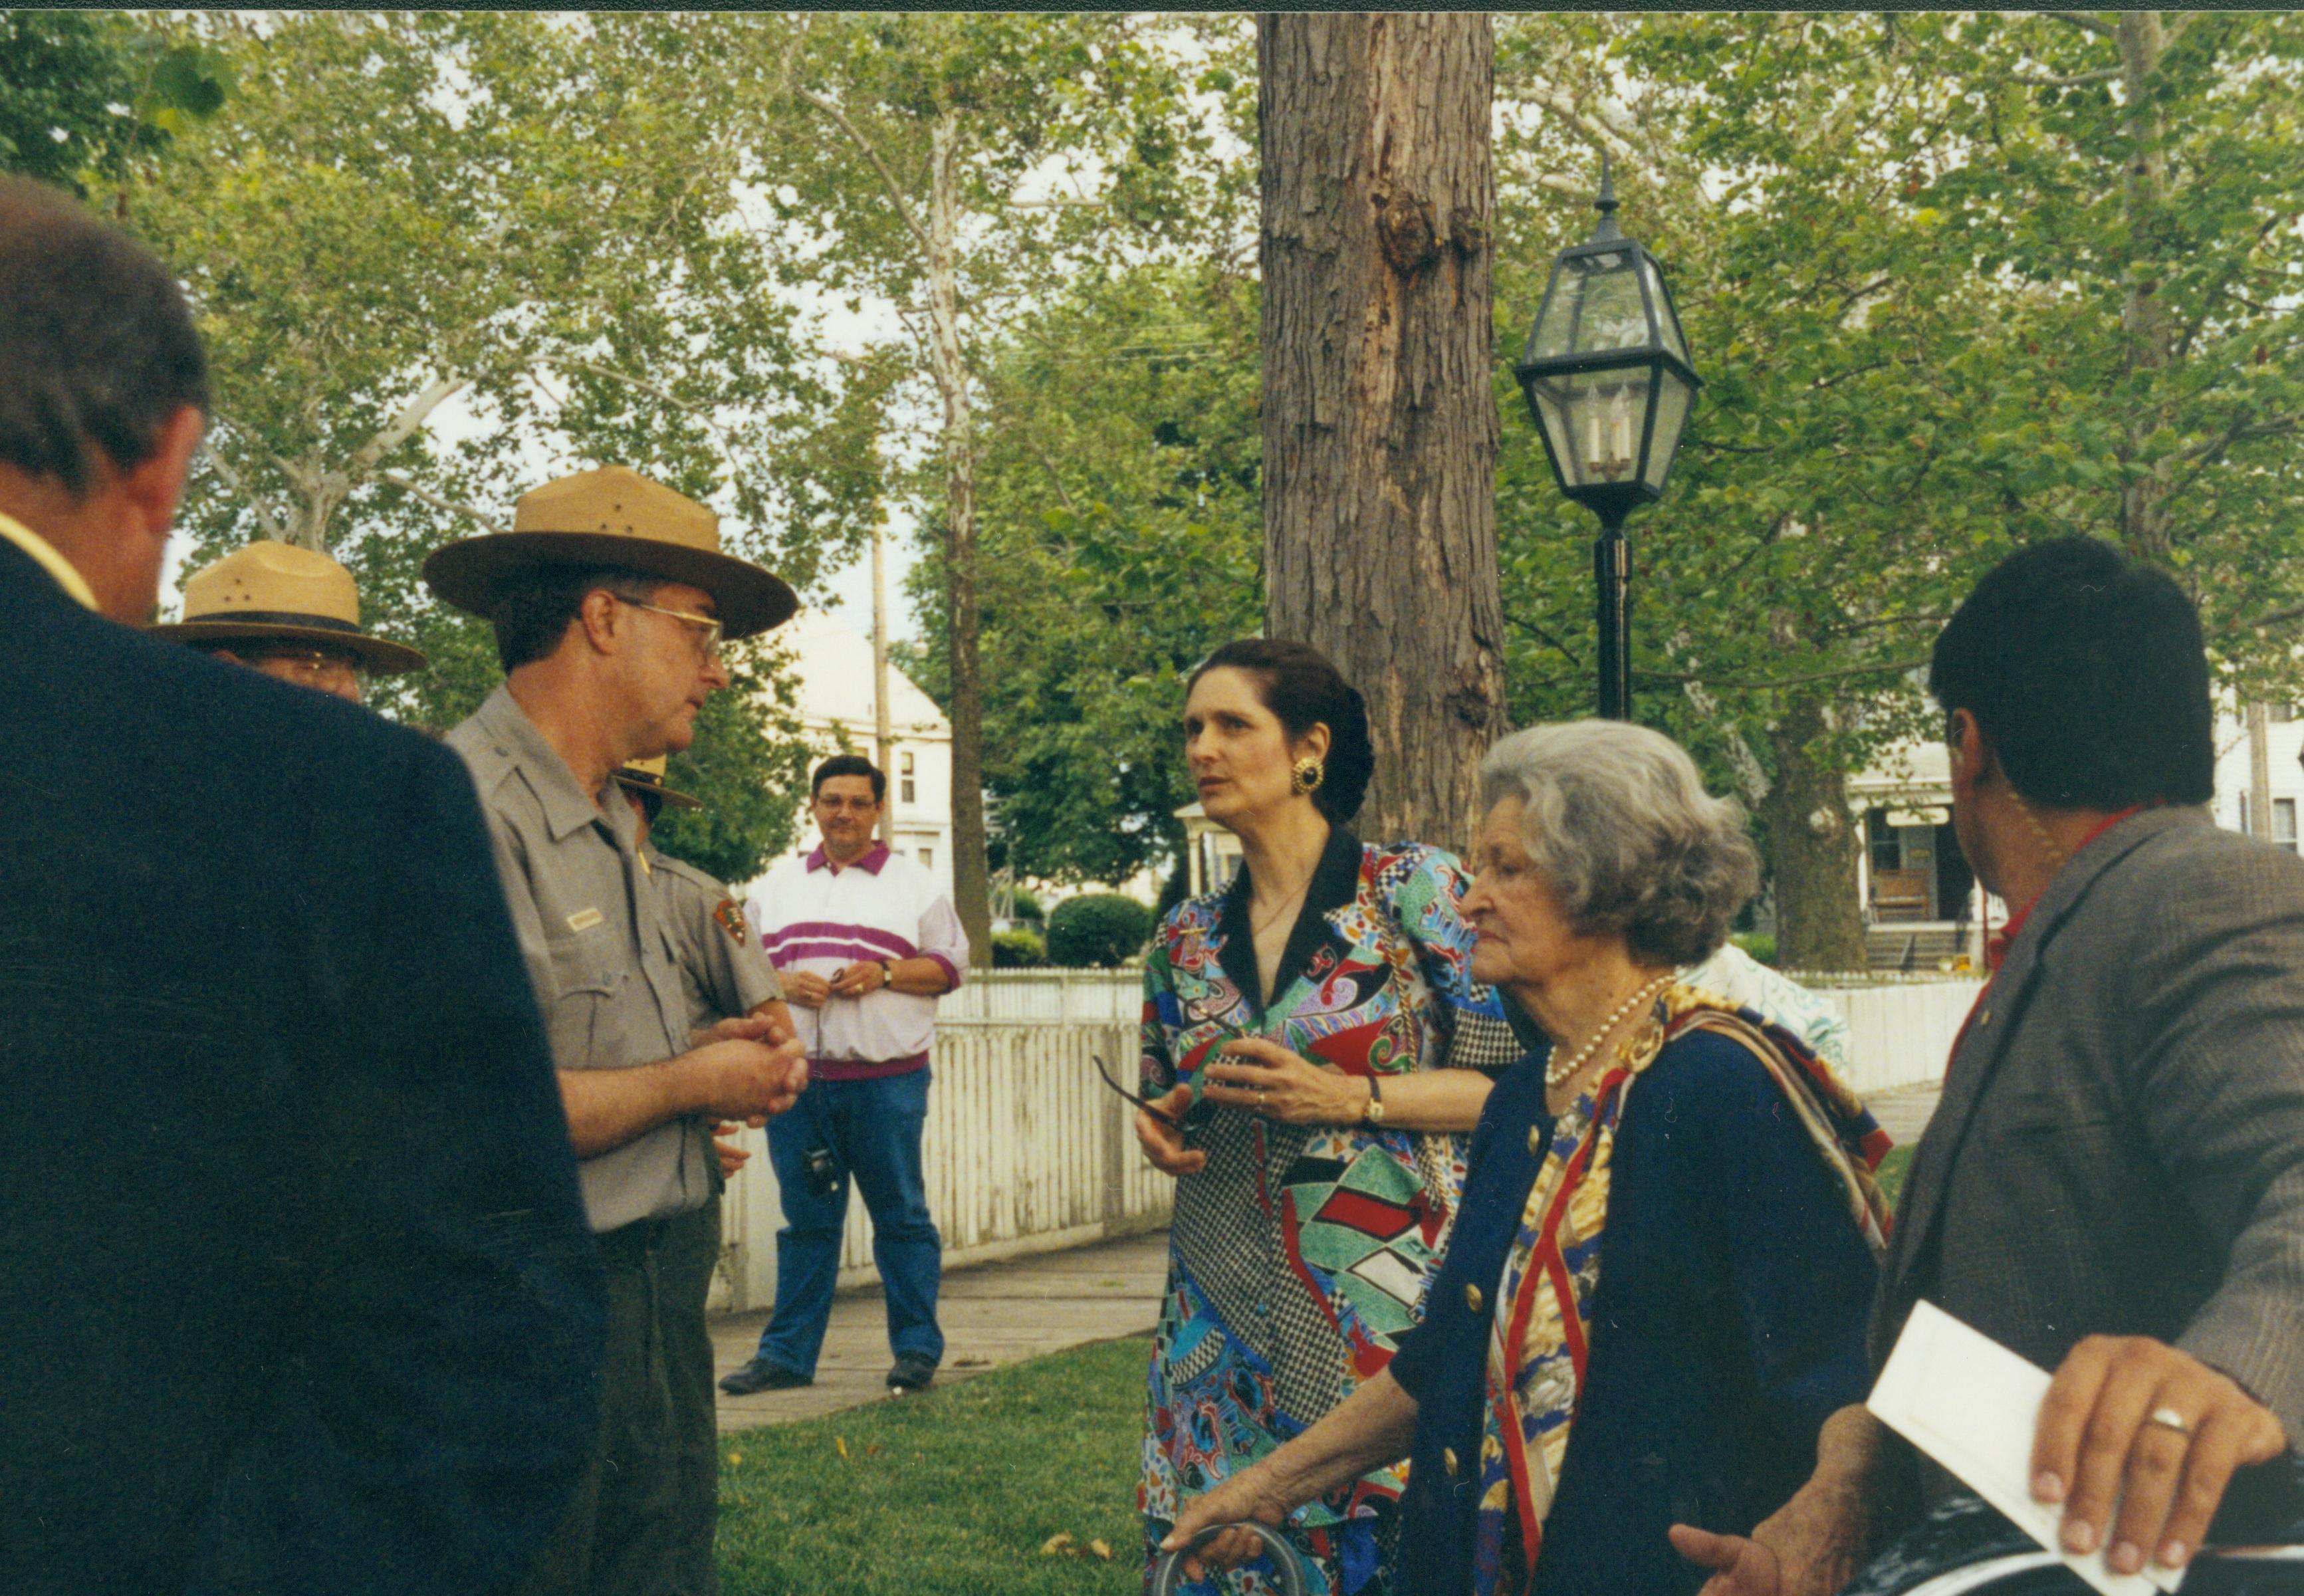
<instances>
[{"instance_id":1,"label":"elderly gray-haired woman in navy jacket, patterned scarf and pearl necklace","mask_svg":"<svg viewBox=\"0 0 2304 1596\"><path fill-rule=\"evenodd\" d=\"M1405 1456L1401 1596L1698 1591L1675 1525L1852 1564L1795 1492L1862 1444L1825 1421L1869 1384L1887 1138L1797 1036L1675 974L1758 887L1742 813L1620 721L1516 732L1481 781L1472 972L1548 1046L1481 1110L1389 1368L1166 1545ZM1223 1529L1193 1561L1251 1552Z\"/></svg>"}]
</instances>

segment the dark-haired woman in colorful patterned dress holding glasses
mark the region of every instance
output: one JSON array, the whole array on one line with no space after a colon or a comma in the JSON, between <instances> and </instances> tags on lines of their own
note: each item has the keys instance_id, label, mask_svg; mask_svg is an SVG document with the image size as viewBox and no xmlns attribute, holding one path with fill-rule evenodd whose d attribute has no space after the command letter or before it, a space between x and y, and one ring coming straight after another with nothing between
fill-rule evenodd
<instances>
[{"instance_id":1,"label":"dark-haired woman in colorful patterned dress holding glasses","mask_svg":"<svg viewBox=\"0 0 2304 1596\"><path fill-rule=\"evenodd\" d=\"M1470 974L1456 861L1346 824L1366 712L1316 649L1246 640L1191 679L1184 751L1240 836L1221 894L1177 905L1145 970L1147 1156L1177 1177L1138 1504L1182 1502L1375 1375L1415 1322L1463 1181L1463 1133L1518 1055ZM1318 1596L1380 1596L1401 1474L1382 1460L1288 1525ZM1258 1571L1235 1580L1265 1589Z\"/></svg>"}]
</instances>

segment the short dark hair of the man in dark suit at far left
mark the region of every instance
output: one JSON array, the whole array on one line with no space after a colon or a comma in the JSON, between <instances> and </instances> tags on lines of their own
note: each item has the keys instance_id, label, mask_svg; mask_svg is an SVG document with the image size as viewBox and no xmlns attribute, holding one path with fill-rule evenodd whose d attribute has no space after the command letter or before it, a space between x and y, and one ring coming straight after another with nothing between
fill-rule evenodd
<instances>
[{"instance_id":1,"label":"short dark hair of the man in dark suit at far left","mask_svg":"<svg viewBox=\"0 0 2304 1596\"><path fill-rule=\"evenodd\" d=\"M0 468L78 497L92 449L134 470L184 405L210 408L207 357L168 269L60 189L0 177Z\"/></svg>"}]
</instances>

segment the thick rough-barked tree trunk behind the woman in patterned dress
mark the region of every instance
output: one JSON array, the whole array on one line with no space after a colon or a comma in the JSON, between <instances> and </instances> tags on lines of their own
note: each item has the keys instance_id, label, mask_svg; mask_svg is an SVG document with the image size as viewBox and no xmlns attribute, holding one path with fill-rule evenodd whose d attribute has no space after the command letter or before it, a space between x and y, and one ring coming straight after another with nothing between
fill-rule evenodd
<instances>
[{"instance_id":1,"label":"thick rough-barked tree trunk behind the woman in patterned dress","mask_svg":"<svg viewBox=\"0 0 2304 1596\"><path fill-rule=\"evenodd\" d=\"M1359 829L1463 848L1505 730L1479 14L1272 14L1263 134L1265 631L1369 700Z\"/></svg>"}]
</instances>

